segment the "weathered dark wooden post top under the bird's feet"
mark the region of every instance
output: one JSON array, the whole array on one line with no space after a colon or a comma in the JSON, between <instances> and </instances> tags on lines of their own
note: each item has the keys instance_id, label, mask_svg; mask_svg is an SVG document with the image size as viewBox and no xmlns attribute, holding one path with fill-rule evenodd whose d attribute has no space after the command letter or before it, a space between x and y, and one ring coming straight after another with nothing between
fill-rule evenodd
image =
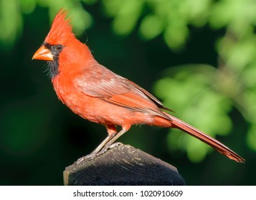
<instances>
[{"instance_id":1,"label":"weathered dark wooden post top under the bird's feet","mask_svg":"<svg viewBox=\"0 0 256 200\"><path fill-rule=\"evenodd\" d=\"M135 149L118 144L90 161L67 166L64 185L184 185L176 167Z\"/></svg>"}]
</instances>

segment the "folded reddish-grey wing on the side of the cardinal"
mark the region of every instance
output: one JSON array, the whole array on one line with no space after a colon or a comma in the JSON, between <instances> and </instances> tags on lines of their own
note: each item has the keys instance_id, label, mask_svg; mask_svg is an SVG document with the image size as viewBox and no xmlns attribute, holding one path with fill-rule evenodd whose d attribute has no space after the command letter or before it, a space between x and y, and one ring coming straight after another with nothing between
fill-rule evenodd
<instances>
[{"instance_id":1,"label":"folded reddish-grey wing on the side of the cardinal","mask_svg":"<svg viewBox=\"0 0 256 200\"><path fill-rule=\"evenodd\" d=\"M169 119L169 116L163 114L160 109L171 110L164 107L155 96L100 64L85 69L82 75L75 78L74 84L79 91L88 96Z\"/></svg>"}]
</instances>

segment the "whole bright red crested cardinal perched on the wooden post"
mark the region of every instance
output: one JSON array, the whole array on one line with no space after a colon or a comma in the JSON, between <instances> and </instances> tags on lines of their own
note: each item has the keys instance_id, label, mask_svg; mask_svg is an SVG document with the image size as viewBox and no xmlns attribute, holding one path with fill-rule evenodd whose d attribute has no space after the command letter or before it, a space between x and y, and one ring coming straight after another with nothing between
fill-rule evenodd
<instances>
[{"instance_id":1,"label":"whole bright red crested cardinal perched on the wooden post","mask_svg":"<svg viewBox=\"0 0 256 200\"><path fill-rule=\"evenodd\" d=\"M133 124L181 129L233 159L245 159L221 142L163 110L171 111L152 94L102 66L72 33L67 12L60 10L52 28L32 59L48 61L49 75L60 101L82 118L103 124L108 136L90 159L106 151ZM116 126L122 129L118 132Z\"/></svg>"}]
</instances>

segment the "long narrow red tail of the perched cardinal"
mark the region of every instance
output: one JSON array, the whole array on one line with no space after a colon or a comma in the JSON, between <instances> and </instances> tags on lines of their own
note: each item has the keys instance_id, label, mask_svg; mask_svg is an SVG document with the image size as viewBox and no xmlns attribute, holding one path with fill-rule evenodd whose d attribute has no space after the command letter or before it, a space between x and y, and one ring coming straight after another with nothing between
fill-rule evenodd
<instances>
[{"instance_id":1,"label":"long narrow red tail of the perched cardinal","mask_svg":"<svg viewBox=\"0 0 256 200\"><path fill-rule=\"evenodd\" d=\"M204 134L202 131L199 131L198 129L194 128L189 124L186 124L184 121L181 121L180 119L177 119L174 116L171 116L169 114L166 114L166 115L172 119L171 124L173 128L181 129L187 134L190 134L191 136L194 136L197 139L204 141L209 146L212 146L214 149L216 149L220 153L229 157L229 159L232 159L240 163L245 163L245 159L243 159L240 155L236 154L234 151L232 151L227 146L222 144L220 141L217 141L217 139L214 139L211 136Z\"/></svg>"}]
</instances>

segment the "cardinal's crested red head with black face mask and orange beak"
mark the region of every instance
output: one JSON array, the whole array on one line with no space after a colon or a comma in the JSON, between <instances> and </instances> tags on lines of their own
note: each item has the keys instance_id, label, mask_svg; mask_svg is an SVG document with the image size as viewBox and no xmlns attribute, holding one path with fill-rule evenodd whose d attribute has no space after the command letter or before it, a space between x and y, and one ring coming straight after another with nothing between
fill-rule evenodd
<instances>
[{"instance_id":1,"label":"cardinal's crested red head with black face mask and orange beak","mask_svg":"<svg viewBox=\"0 0 256 200\"><path fill-rule=\"evenodd\" d=\"M53 79L60 71L68 69L68 66L79 66L77 63L82 61L81 56L85 58L88 55L91 56L90 50L75 38L67 11L61 9L55 16L44 43L32 59L48 61L49 76Z\"/></svg>"}]
</instances>

